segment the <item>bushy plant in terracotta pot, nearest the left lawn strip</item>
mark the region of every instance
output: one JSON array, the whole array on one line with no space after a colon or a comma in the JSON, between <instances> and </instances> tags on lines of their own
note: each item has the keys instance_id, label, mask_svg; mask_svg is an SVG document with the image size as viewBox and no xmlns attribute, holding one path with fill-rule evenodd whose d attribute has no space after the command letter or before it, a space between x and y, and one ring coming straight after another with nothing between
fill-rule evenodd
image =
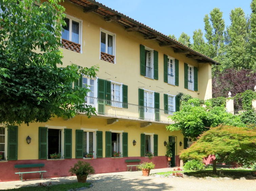
<instances>
[{"instance_id":1,"label":"bushy plant in terracotta pot, nearest the left lawn strip","mask_svg":"<svg viewBox=\"0 0 256 191\"><path fill-rule=\"evenodd\" d=\"M88 174L93 174L95 172L93 166L90 163L85 161L77 161L74 166L68 170L68 172L73 176L76 174L77 182L85 183Z\"/></svg>"}]
</instances>

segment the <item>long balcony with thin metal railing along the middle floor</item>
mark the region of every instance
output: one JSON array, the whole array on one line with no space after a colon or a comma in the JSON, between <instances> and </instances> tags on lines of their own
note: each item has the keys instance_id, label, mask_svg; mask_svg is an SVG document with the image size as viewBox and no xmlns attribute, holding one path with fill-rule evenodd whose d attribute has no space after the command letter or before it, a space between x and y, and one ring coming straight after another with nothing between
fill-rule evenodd
<instances>
[{"instance_id":1,"label":"long balcony with thin metal railing along the middle floor","mask_svg":"<svg viewBox=\"0 0 256 191\"><path fill-rule=\"evenodd\" d=\"M97 116L107 118L121 118L129 120L137 120L141 122L156 122L161 124L174 124L168 118L173 111L156 109L152 107L139 106L123 102L103 100L93 97L85 97L85 103L96 108Z\"/></svg>"}]
</instances>

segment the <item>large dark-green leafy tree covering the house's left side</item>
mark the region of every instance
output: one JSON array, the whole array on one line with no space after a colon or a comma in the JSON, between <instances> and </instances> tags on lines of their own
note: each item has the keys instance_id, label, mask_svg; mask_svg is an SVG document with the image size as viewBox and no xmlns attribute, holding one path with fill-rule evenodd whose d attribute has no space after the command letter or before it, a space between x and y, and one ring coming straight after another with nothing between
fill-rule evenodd
<instances>
[{"instance_id":1,"label":"large dark-green leafy tree covering the house's left side","mask_svg":"<svg viewBox=\"0 0 256 191\"><path fill-rule=\"evenodd\" d=\"M60 50L64 7L60 0L0 0L0 123L46 122L95 108L84 104L88 88L74 84L95 77L98 67L62 67Z\"/></svg>"}]
</instances>

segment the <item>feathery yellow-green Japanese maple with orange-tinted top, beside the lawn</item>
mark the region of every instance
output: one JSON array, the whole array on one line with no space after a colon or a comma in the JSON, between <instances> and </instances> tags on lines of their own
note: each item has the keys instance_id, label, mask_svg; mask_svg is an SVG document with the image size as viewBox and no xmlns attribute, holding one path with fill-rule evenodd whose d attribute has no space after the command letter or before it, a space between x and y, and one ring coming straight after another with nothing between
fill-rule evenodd
<instances>
[{"instance_id":1,"label":"feathery yellow-green Japanese maple with orange-tinted top, beside the lawn","mask_svg":"<svg viewBox=\"0 0 256 191\"><path fill-rule=\"evenodd\" d=\"M180 153L182 160L215 155L213 173L217 162L236 161L248 164L256 161L256 129L220 125L200 135L191 147Z\"/></svg>"}]
</instances>

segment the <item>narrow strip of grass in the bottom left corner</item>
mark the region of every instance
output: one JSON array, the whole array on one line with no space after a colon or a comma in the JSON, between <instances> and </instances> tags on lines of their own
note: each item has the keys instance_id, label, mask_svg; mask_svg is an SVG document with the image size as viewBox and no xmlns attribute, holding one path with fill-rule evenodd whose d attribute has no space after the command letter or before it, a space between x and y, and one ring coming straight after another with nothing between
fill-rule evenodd
<instances>
[{"instance_id":1,"label":"narrow strip of grass in the bottom left corner","mask_svg":"<svg viewBox=\"0 0 256 191\"><path fill-rule=\"evenodd\" d=\"M67 191L71 188L89 187L91 183L66 183L50 186L23 186L20 188L7 189L8 191ZM0 190L3 191L3 190Z\"/></svg>"}]
</instances>

